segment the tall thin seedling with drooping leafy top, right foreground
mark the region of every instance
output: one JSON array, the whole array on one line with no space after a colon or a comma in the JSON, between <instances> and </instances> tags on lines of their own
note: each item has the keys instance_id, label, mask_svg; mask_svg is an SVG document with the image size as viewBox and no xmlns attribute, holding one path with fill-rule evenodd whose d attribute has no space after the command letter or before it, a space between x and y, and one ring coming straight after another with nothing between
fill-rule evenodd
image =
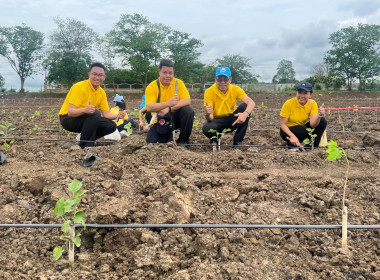
<instances>
[{"instance_id":1,"label":"tall thin seedling with drooping leafy top, right foreground","mask_svg":"<svg viewBox=\"0 0 380 280\"><path fill-rule=\"evenodd\" d=\"M342 198L342 248L344 250L348 250L347 245L347 216L348 216L348 210L345 206L345 200L346 200L346 189L347 189L347 181L348 181L348 172L350 170L350 162L348 161L347 154L344 151L343 148L339 147L336 142L333 140L330 140L330 142L327 143L327 150L326 152L329 154L327 157L327 160L329 161L335 161L337 159L344 158L346 159L347 168L346 168L346 174L345 174L345 181L344 181L344 187L343 187L343 198Z\"/></svg>"}]
</instances>

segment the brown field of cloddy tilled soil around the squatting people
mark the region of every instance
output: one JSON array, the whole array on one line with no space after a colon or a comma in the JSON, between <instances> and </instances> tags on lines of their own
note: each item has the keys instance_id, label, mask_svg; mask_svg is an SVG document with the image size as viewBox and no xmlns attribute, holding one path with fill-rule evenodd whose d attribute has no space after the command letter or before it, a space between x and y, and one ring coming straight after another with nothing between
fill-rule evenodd
<instances>
[{"instance_id":1,"label":"brown field of cloddy tilled soil around the squatting people","mask_svg":"<svg viewBox=\"0 0 380 280\"><path fill-rule=\"evenodd\" d=\"M62 130L63 95L0 95L0 224L58 224L56 202L78 179L88 224L339 225L346 161L325 148L293 152L279 137L279 109L294 94L250 93L257 105L239 149L231 134L212 152L203 136L202 94L189 149L146 145L138 130L120 142L81 150ZM111 100L113 94L109 94ZM125 94L130 116L141 95ZM380 93L315 93L327 108L380 106ZM349 225L380 224L380 110L329 110L327 136L350 170ZM99 159L83 167L87 152ZM87 228L75 263L58 228L0 228L0 279L380 279L380 230Z\"/></svg>"}]
</instances>

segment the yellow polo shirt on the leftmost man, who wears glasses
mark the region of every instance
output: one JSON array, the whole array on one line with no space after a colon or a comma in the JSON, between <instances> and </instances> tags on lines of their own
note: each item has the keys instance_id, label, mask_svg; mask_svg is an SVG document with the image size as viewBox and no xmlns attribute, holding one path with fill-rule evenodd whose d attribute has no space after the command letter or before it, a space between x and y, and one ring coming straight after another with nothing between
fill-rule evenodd
<instances>
[{"instance_id":1,"label":"yellow polo shirt on the leftmost man, who wears glasses","mask_svg":"<svg viewBox=\"0 0 380 280\"><path fill-rule=\"evenodd\" d=\"M59 115L66 115L69 110L69 103L78 108L85 108L88 102L100 111L108 111L106 92L101 88L94 89L90 80L81 81L74 84L66 96L65 101L59 111Z\"/></svg>"}]
</instances>

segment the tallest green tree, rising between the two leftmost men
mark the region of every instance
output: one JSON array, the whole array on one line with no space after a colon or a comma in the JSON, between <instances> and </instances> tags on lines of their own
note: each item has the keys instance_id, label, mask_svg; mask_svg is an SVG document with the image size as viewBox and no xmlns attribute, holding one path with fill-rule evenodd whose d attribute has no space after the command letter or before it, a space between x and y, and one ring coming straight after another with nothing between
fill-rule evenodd
<instances>
[{"instance_id":1,"label":"tallest green tree, rising between the two leftmost men","mask_svg":"<svg viewBox=\"0 0 380 280\"><path fill-rule=\"evenodd\" d=\"M134 70L144 88L148 83L149 68L157 64L165 51L170 28L151 23L140 14L121 15L107 36L122 57L123 65Z\"/></svg>"}]
</instances>

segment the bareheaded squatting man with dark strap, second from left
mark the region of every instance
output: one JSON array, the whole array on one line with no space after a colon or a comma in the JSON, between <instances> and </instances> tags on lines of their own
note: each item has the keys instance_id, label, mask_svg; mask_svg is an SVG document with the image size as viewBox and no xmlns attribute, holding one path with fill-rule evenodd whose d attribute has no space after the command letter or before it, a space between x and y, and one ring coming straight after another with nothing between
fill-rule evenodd
<instances>
[{"instance_id":1,"label":"bareheaded squatting man with dark strap, second from left","mask_svg":"<svg viewBox=\"0 0 380 280\"><path fill-rule=\"evenodd\" d=\"M173 141L172 132L179 128L177 145L187 148L194 121L190 94L185 84L174 78L174 63L171 60L161 60L158 74L159 78L151 82L145 90L146 109L152 113L152 125L146 142Z\"/></svg>"}]
</instances>

